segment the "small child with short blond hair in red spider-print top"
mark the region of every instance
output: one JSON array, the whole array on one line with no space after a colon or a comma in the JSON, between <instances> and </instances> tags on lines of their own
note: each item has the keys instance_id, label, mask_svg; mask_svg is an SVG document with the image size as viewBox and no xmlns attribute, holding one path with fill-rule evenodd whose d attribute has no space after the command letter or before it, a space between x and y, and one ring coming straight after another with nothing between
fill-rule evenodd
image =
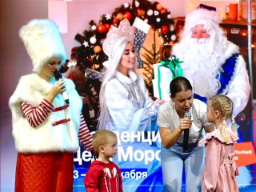
<instances>
[{"instance_id":1,"label":"small child with short blond hair in red spider-print top","mask_svg":"<svg viewBox=\"0 0 256 192\"><path fill-rule=\"evenodd\" d=\"M122 192L121 172L110 158L117 153L118 138L110 130L98 130L93 137L94 158L83 182L86 192Z\"/></svg>"}]
</instances>

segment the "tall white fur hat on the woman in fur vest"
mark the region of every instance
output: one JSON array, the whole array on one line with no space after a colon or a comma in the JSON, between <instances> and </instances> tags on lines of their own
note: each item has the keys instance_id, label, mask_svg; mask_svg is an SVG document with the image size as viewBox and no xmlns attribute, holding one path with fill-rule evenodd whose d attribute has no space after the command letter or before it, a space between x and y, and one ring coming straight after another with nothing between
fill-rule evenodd
<instances>
[{"instance_id":1,"label":"tall white fur hat on the woman in fur vest","mask_svg":"<svg viewBox=\"0 0 256 192\"><path fill-rule=\"evenodd\" d=\"M32 19L19 30L19 37L30 55L34 72L39 73L51 58L66 61L58 26L50 19Z\"/></svg>"}]
</instances>

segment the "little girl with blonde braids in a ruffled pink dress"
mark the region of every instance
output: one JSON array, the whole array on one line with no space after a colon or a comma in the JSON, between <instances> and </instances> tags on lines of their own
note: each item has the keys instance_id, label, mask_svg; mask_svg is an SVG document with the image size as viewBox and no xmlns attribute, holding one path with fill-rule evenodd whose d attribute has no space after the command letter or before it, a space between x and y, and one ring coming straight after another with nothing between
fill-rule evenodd
<instances>
[{"instance_id":1,"label":"little girl with blonde braids in a ruffled pink dress","mask_svg":"<svg viewBox=\"0 0 256 192\"><path fill-rule=\"evenodd\" d=\"M238 140L232 118L233 102L224 95L217 95L207 102L207 120L214 122L216 130L206 134L198 146L206 144L205 167L202 171L202 192L226 191L236 192L238 184L235 176L239 174L238 166L233 160L234 142ZM226 120L232 121L232 128Z\"/></svg>"}]
</instances>

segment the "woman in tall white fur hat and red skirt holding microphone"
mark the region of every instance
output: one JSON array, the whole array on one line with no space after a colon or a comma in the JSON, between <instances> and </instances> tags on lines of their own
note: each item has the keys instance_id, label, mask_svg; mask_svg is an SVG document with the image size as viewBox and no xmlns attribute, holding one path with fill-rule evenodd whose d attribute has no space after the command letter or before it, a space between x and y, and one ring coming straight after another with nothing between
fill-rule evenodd
<instances>
[{"instance_id":1,"label":"woman in tall white fur hat and red skirt holding microphone","mask_svg":"<svg viewBox=\"0 0 256 192\"><path fill-rule=\"evenodd\" d=\"M9 106L18 151L15 191L73 191L73 153L92 137L74 83L54 74L66 60L58 26L33 19L19 31L34 66L22 76ZM69 101L62 98L66 91Z\"/></svg>"}]
</instances>

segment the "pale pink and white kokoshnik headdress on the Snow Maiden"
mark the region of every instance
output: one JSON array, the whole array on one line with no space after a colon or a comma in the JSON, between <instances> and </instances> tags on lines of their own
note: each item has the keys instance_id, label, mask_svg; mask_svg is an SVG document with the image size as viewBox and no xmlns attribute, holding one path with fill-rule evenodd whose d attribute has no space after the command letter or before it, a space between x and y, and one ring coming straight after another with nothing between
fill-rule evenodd
<instances>
[{"instance_id":1,"label":"pale pink and white kokoshnik headdress on the Snow Maiden","mask_svg":"<svg viewBox=\"0 0 256 192\"><path fill-rule=\"evenodd\" d=\"M102 48L104 53L109 57L109 60L114 58L118 47L125 40L134 44L134 26L130 26L127 18L120 22L118 28L111 26L110 31L106 35L106 40L103 42Z\"/></svg>"}]
</instances>

